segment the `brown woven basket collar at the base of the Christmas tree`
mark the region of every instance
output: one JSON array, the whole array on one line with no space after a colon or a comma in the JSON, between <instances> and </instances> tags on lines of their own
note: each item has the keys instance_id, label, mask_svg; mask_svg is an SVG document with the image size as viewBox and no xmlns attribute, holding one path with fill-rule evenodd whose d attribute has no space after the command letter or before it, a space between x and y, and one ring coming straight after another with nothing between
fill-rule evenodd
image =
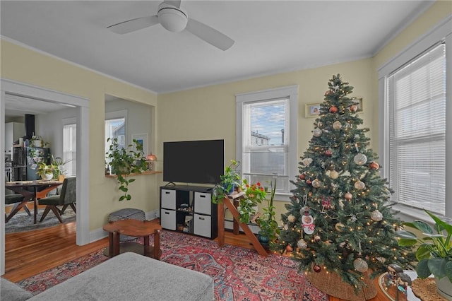
<instances>
[{"instance_id":1,"label":"brown woven basket collar at the base of the Christmas tree","mask_svg":"<svg viewBox=\"0 0 452 301\"><path fill-rule=\"evenodd\" d=\"M345 283L337 273L326 273L323 268L319 273L307 273L307 278L312 285L323 293L339 299L364 301L376 296L376 286L368 275L366 275L364 279L364 283L366 283L367 286L364 286L358 294L355 293L355 288L353 288L352 285Z\"/></svg>"}]
</instances>

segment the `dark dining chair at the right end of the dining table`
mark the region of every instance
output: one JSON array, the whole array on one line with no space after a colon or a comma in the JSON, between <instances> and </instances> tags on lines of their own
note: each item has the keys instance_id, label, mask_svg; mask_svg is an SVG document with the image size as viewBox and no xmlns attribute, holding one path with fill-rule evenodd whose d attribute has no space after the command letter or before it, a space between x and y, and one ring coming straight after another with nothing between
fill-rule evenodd
<instances>
[{"instance_id":1,"label":"dark dining chair at the right end of the dining table","mask_svg":"<svg viewBox=\"0 0 452 301\"><path fill-rule=\"evenodd\" d=\"M46 205L40 222L42 222L42 220L44 220L47 216L47 213L52 210L55 216L57 216L59 222L63 223L61 214L68 206L71 206L72 210L76 212L76 177L67 177L64 179L59 195L47 196L47 198L40 199L38 203L40 205ZM59 210L57 206L62 206L61 210Z\"/></svg>"}]
</instances>

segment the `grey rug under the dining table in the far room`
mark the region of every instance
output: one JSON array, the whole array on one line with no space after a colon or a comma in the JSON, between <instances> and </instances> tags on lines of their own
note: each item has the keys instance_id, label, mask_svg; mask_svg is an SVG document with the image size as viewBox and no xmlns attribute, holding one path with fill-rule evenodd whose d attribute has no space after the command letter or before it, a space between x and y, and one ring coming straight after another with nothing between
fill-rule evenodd
<instances>
[{"instance_id":1,"label":"grey rug under the dining table in the far room","mask_svg":"<svg viewBox=\"0 0 452 301\"><path fill-rule=\"evenodd\" d=\"M23 211L16 213L16 215L13 216L11 220L8 220L8 223L5 223L5 233L38 230L52 227L54 225L59 225L59 220L52 211L47 213L47 216L44 218L44 220L40 222L44 208L38 209L36 217L37 223L33 224L33 209L32 206L30 207L31 216L28 216L28 214ZM71 207L69 207L66 209L66 211L64 211L61 219L63 220L63 223L72 222L76 220L76 213L73 212Z\"/></svg>"}]
</instances>

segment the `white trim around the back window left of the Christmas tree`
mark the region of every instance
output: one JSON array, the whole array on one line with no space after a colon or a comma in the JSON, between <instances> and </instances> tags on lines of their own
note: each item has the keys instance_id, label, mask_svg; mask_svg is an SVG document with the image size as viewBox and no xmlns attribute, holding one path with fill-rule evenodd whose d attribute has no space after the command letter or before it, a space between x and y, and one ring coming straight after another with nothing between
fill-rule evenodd
<instances>
[{"instance_id":1,"label":"white trim around the back window left of the Christmas tree","mask_svg":"<svg viewBox=\"0 0 452 301\"><path fill-rule=\"evenodd\" d=\"M298 172L298 160L297 160L297 148L298 148L298 85L289 85L286 87L273 88L267 90L258 90L254 92L239 93L235 95L236 100L236 112L237 112L237 124L236 124L236 158L242 161L242 106L244 102L253 102L260 100L270 100L277 98L289 98L289 118L290 118L290 132L289 132L289 151L287 153L287 175L289 180L295 180ZM289 183L289 187L291 187ZM291 190L291 188L289 189ZM281 200L286 200L287 196L290 196L290 191L287 194L277 194L283 196Z\"/></svg>"}]
</instances>

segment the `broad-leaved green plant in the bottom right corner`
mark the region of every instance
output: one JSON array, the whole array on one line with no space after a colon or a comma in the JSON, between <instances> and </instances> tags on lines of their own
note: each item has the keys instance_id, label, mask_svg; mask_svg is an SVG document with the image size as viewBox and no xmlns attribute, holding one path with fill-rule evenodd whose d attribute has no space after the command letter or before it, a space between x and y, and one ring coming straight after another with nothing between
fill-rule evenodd
<instances>
[{"instance_id":1,"label":"broad-leaved green plant in the bottom right corner","mask_svg":"<svg viewBox=\"0 0 452 301\"><path fill-rule=\"evenodd\" d=\"M435 222L436 233L429 224L422 220L403 225L420 230L422 234L398 230L400 246L417 247L416 272L419 278L435 276L436 290L440 295L452 300L452 225L441 220L429 211L425 211Z\"/></svg>"}]
</instances>

